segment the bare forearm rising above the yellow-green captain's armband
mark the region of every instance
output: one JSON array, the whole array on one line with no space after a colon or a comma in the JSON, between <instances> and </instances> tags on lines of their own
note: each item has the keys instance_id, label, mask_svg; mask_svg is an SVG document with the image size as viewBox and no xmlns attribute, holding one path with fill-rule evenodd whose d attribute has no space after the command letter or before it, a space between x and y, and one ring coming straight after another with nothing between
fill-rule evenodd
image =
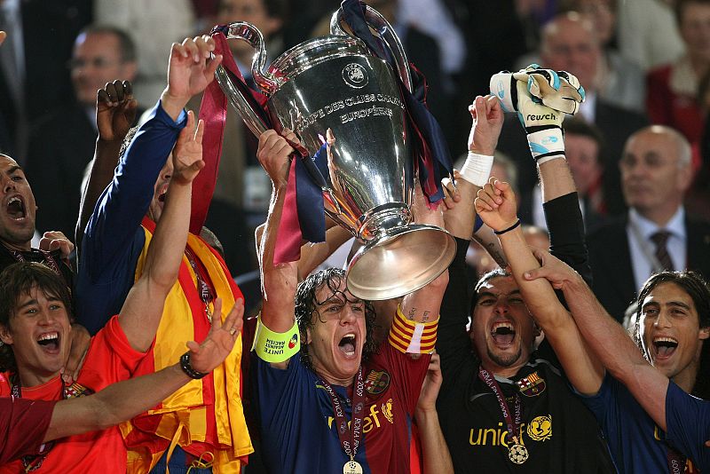
<instances>
[{"instance_id":1,"label":"bare forearm rising above the yellow-green captain's armband","mask_svg":"<svg viewBox=\"0 0 710 474\"><path fill-rule=\"evenodd\" d=\"M259 249L263 293L261 318L264 326L277 333L286 332L294 325L294 298L298 281L296 262L276 264L273 261L285 201L286 185L274 186Z\"/></svg>"}]
</instances>

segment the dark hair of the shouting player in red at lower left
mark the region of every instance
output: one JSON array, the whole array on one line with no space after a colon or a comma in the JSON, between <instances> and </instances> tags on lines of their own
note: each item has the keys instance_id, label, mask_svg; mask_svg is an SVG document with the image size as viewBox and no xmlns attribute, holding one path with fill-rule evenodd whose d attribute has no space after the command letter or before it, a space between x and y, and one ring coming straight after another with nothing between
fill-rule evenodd
<instances>
[{"instance_id":1,"label":"dark hair of the shouting player in red at lower left","mask_svg":"<svg viewBox=\"0 0 710 474\"><path fill-rule=\"evenodd\" d=\"M71 295L67 283L50 268L35 262L18 262L7 266L0 273L0 326L10 328L10 320L15 314L20 296L28 294L32 288L38 288L45 295L51 295L67 308L71 319ZM12 347L0 346L0 371L16 371L17 365Z\"/></svg>"}]
</instances>

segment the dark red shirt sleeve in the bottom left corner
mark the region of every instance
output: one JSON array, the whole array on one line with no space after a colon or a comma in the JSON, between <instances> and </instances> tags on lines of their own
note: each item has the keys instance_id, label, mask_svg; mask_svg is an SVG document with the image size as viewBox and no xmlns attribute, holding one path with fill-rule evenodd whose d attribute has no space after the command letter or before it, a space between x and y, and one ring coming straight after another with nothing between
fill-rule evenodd
<instances>
[{"instance_id":1,"label":"dark red shirt sleeve in the bottom left corner","mask_svg":"<svg viewBox=\"0 0 710 474\"><path fill-rule=\"evenodd\" d=\"M56 401L0 398L0 466L37 454Z\"/></svg>"}]
</instances>

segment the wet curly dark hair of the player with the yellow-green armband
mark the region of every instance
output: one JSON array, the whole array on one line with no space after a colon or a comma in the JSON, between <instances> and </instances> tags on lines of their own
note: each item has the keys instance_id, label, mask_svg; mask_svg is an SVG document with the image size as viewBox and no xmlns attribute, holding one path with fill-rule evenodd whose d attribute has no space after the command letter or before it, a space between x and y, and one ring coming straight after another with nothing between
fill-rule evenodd
<instances>
[{"instance_id":1,"label":"wet curly dark hair of the player with the yellow-green armband","mask_svg":"<svg viewBox=\"0 0 710 474\"><path fill-rule=\"evenodd\" d=\"M313 316L320 317L319 302L316 300L318 290L327 287L335 294L344 279L344 270L327 268L311 273L298 284L294 313L302 341L306 340L306 331L315 326ZM370 302L363 301L363 303L365 304L365 327L367 328L365 345L362 348L362 360L365 361L377 351L377 342L375 341L375 310ZM301 344L301 360L306 367L313 368L311 354L308 353L308 344Z\"/></svg>"}]
</instances>

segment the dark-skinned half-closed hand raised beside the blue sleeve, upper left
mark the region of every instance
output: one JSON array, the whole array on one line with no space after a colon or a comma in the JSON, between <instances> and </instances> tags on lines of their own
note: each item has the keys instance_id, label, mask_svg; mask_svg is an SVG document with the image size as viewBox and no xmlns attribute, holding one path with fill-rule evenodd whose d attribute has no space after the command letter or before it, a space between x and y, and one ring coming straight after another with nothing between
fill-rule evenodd
<instances>
[{"instance_id":1,"label":"dark-skinned half-closed hand raised beside the blue sleeve, upper left","mask_svg":"<svg viewBox=\"0 0 710 474\"><path fill-rule=\"evenodd\" d=\"M133 97L133 86L129 81L115 80L106 83L96 94L96 126L99 139L123 141L136 121L138 100Z\"/></svg>"}]
</instances>

